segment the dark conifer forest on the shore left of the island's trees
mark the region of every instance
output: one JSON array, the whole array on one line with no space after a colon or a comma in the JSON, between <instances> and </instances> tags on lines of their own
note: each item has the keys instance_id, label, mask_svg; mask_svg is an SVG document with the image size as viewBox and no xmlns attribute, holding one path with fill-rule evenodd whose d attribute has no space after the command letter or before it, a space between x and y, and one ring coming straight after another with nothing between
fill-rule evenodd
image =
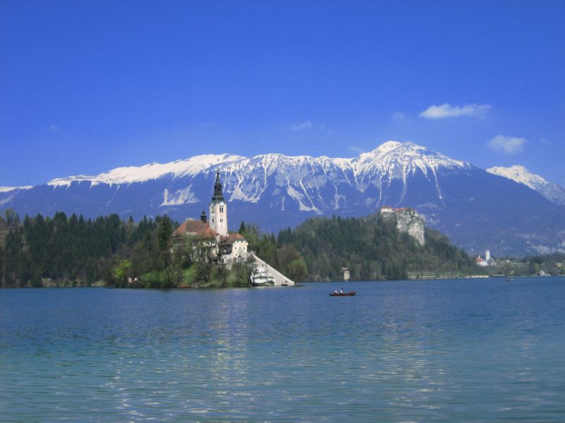
<instances>
[{"instance_id":1,"label":"dark conifer forest on the shore left of the island's trees","mask_svg":"<svg viewBox=\"0 0 565 423\"><path fill-rule=\"evenodd\" d=\"M44 280L90 286L102 278L119 286L124 274L138 275L142 263L150 269L157 262L150 245L157 228L152 219L135 224L117 214L87 220L57 212L46 218L26 215L21 222L11 210L5 215L0 218L1 286L42 286ZM148 250L138 247L145 240ZM124 261L131 262L127 270L119 266Z\"/></svg>"}]
</instances>

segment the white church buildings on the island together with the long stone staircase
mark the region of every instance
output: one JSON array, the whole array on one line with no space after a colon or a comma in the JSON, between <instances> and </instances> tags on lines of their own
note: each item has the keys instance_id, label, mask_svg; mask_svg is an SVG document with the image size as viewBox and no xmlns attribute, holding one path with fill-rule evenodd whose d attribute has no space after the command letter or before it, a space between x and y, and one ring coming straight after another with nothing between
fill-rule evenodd
<instances>
[{"instance_id":1,"label":"white church buildings on the island together with the long stone staircase","mask_svg":"<svg viewBox=\"0 0 565 423\"><path fill-rule=\"evenodd\" d=\"M251 282L255 285L292 286L295 283L280 274L272 266L263 262L249 250L249 243L239 233L227 231L227 202L222 192L220 172L216 172L214 194L208 207L210 219L202 212L200 219L186 219L173 233L176 240L183 236L194 236L203 240L203 245L210 251L213 262L221 262L231 268L234 262L251 264Z\"/></svg>"}]
</instances>

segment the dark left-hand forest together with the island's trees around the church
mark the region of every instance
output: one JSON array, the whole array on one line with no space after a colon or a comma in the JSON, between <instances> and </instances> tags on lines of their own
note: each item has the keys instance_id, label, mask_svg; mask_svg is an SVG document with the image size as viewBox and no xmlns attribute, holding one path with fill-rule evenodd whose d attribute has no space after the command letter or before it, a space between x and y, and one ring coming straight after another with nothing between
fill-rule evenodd
<instances>
[{"instance_id":1,"label":"dark left-hand forest together with the island's trees around the church","mask_svg":"<svg viewBox=\"0 0 565 423\"><path fill-rule=\"evenodd\" d=\"M136 223L131 218L122 221L117 214L84 219L63 212L53 217L25 216L20 221L18 214L7 210L0 217L0 283L6 288L250 285L249 263L234 264L232 269L214 263L206 240L172 240L177 226L168 216L145 217ZM268 255L273 246L276 250L275 242L271 244L274 235L260 235L254 226L244 231L261 253ZM275 262L287 271L282 255ZM303 262L295 260L292 265L290 276L303 278Z\"/></svg>"}]
</instances>

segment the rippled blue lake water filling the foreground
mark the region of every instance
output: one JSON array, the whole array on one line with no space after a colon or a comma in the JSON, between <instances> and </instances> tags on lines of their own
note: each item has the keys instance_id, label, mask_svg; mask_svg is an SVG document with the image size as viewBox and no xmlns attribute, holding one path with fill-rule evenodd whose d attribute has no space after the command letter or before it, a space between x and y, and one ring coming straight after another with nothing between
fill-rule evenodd
<instances>
[{"instance_id":1,"label":"rippled blue lake water filling the foreground","mask_svg":"<svg viewBox=\"0 0 565 423\"><path fill-rule=\"evenodd\" d=\"M564 422L565 278L0 290L0 419Z\"/></svg>"}]
</instances>

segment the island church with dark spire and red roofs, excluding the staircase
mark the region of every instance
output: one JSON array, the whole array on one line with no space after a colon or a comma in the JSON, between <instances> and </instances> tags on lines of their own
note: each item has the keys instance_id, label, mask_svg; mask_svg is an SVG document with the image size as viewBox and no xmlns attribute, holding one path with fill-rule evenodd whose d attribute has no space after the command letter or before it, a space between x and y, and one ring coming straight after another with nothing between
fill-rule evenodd
<instances>
[{"instance_id":1,"label":"island church with dark spire and red roofs, excluding the staircase","mask_svg":"<svg viewBox=\"0 0 565 423\"><path fill-rule=\"evenodd\" d=\"M220 172L216 172L214 195L208 207L208 216L203 211L199 220L187 219L173 233L173 238L194 235L208 240L213 247L212 257L231 266L233 262L244 262L248 257L249 243L239 233L227 231L227 202L225 202L220 182Z\"/></svg>"}]
</instances>

